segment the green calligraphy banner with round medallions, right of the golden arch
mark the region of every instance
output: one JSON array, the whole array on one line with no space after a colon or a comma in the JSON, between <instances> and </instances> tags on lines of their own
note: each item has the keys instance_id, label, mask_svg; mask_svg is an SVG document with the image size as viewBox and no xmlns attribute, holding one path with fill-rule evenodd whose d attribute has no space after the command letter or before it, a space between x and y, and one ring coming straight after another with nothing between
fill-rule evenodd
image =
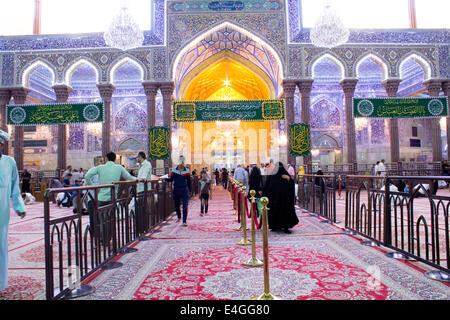
<instances>
[{"instance_id":1,"label":"green calligraphy banner with round medallions, right of the golden arch","mask_svg":"<svg viewBox=\"0 0 450 320\"><path fill-rule=\"evenodd\" d=\"M353 117L438 118L448 116L447 97L353 98Z\"/></svg>"}]
</instances>

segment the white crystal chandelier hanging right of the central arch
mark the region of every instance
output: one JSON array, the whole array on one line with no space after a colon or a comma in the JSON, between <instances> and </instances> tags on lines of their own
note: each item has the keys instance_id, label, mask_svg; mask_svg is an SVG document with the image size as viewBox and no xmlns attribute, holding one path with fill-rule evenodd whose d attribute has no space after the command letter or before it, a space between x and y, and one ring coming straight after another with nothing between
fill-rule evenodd
<instances>
[{"instance_id":1,"label":"white crystal chandelier hanging right of the central arch","mask_svg":"<svg viewBox=\"0 0 450 320\"><path fill-rule=\"evenodd\" d=\"M344 44L350 32L339 19L329 1L325 2L316 24L311 29L310 38L316 47L333 48Z\"/></svg>"}]
</instances>

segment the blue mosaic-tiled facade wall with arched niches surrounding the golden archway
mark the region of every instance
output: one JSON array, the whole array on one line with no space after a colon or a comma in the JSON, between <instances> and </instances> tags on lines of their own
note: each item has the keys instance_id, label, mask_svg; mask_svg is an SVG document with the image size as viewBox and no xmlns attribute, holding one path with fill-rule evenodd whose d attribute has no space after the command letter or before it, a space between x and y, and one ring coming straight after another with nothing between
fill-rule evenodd
<instances>
[{"instance_id":1,"label":"blue mosaic-tiled facade wall with arched niches surrounding the golden archway","mask_svg":"<svg viewBox=\"0 0 450 320\"><path fill-rule=\"evenodd\" d=\"M33 74L34 79L30 82L30 96L51 101L50 80L34 73L35 66L45 65L48 67L47 73L54 74L55 83L72 85L74 90L70 101L98 101L96 84L114 82L113 72L118 65L123 62L133 64L142 70L141 77L130 80L124 72L125 78L118 80L113 95L112 127L124 133L117 134L112 145L117 151L126 136L133 136L146 146L146 120L143 120L146 119L146 97L140 81L177 81L177 75L172 74L172 70L181 50L188 44L198 44L198 41L192 41L226 23L232 32L243 29L250 38L253 34L264 40L279 55L284 79L314 77L311 93L312 136L318 139L327 133L339 146L345 147L345 110L342 88L338 84L340 79L358 76L357 96L383 96L385 91L380 82L384 78L402 77L404 81L399 87L399 96L406 96L423 91L422 82L428 77L450 78L449 30L352 30L346 45L324 50L312 46L309 30L301 29L298 0L153 0L153 3L153 30L144 32L142 48L127 52L107 48L101 34L0 37L1 86L24 85L23 78L27 78L24 72L29 72L28 75ZM234 31L233 26L236 26ZM242 35L241 32L239 34ZM220 48L226 42L221 41L220 36L224 34L214 40L211 38L211 46L217 44ZM248 45L255 42L254 37L248 43L239 37L236 39L241 41L240 45ZM195 50L199 48L201 46L195 47ZM261 48L264 50L263 46ZM223 49L232 48L225 46ZM262 57L260 53L254 57L257 55ZM324 56L329 57L325 59L327 63L323 63ZM266 59L266 62L263 60L248 59L249 63L254 63L263 71L264 67L274 62L273 57ZM89 70L81 72L86 66ZM277 81L279 83L280 79ZM300 103L297 91L294 97L296 121L301 121ZM160 92L156 108L157 125L161 125ZM408 128L403 122L402 126ZM279 129L285 130L282 127ZM426 130L423 130L424 135ZM388 144L388 131L385 121L372 120L367 127L357 130L357 143ZM320 141L317 140L317 143ZM403 141L402 145L406 143ZM98 152L100 146L100 136L92 134L85 126L70 126L70 151Z\"/></svg>"}]
</instances>

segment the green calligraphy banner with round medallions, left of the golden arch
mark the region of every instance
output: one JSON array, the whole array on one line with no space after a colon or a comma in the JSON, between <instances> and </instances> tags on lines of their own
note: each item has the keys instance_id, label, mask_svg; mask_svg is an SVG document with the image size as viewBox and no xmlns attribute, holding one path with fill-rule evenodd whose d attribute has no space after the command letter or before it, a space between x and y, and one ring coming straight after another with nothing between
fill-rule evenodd
<instances>
[{"instance_id":1,"label":"green calligraphy banner with round medallions, left of the golden arch","mask_svg":"<svg viewBox=\"0 0 450 320\"><path fill-rule=\"evenodd\" d=\"M103 102L23 104L6 107L12 126L103 122Z\"/></svg>"}]
</instances>

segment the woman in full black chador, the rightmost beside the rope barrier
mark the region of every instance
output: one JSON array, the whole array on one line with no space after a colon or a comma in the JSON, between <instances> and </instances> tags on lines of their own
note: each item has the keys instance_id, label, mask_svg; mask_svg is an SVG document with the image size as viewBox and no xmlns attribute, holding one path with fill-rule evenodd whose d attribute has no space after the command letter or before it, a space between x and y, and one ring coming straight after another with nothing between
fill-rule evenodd
<instances>
[{"instance_id":1,"label":"woman in full black chador, the rightmost beside the rope barrier","mask_svg":"<svg viewBox=\"0 0 450 320\"><path fill-rule=\"evenodd\" d=\"M283 230L285 233L291 233L289 229L298 223L294 180L281 162L277 163L272 175L267 178L263 194L269 198L269 228L272 231Z\"/></svg>"}]
</instances>

